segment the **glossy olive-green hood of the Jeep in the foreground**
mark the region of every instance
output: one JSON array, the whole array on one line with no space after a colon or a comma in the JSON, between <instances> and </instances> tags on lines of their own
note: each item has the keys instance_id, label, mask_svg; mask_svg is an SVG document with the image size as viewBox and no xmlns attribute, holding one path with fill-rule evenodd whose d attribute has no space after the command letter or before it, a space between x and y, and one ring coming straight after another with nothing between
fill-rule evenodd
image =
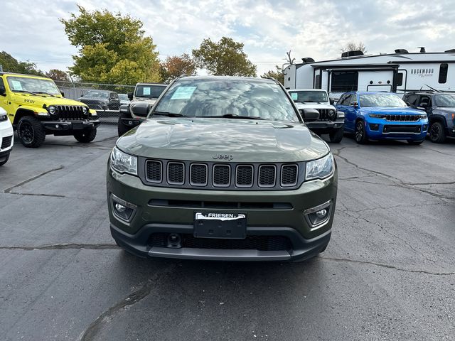
<instances>
[{"instance_id":1,"label":"glossy olive-green hood of the Jeep in the foreground","mask_svg":"<svg viewBox=\"0 0 455 341\"><path fill-rule=\"evenodd\" d=\"M304 124L250 119L148 119L117 140L126 153L183 161L298 162L329 148Z\"/></svg>"}]
</instances>

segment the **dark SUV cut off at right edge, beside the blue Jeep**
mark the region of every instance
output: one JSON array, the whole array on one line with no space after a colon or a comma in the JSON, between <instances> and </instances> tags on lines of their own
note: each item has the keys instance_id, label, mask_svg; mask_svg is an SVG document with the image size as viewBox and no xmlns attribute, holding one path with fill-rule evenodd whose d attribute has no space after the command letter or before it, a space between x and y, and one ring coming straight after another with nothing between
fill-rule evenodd
<instances>
[{"instance_id":1,"label":"dark SUV cut off at right edge, beside the blue Jeep","mask_svg":"<svg viewBox=\"0 0 455 341\"><path fill-rule=\"evenodd\" d=\"M403 100L411 107L427 112L429 139L441 144L446 137L455 137L455 93L408 92Z\"/></svg>"}]
</instances>

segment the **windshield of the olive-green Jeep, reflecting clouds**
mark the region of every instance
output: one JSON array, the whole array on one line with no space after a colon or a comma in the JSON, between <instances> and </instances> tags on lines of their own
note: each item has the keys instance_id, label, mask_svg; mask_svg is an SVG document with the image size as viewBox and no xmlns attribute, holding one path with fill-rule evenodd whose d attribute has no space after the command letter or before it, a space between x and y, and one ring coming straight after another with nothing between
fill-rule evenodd
<instances>
[{"instance_id":1,"label":"windshield of the olive-green Jeep, reflecting clouds","mask_svg":"<svg viewBox=\"0 0 455 341\"><path fill-rule=\"evenodd\" d=\"M173 83L154 112L186 117L299 121L279 85L255 80L181 80Z\"/></svg>"}]
</instances>

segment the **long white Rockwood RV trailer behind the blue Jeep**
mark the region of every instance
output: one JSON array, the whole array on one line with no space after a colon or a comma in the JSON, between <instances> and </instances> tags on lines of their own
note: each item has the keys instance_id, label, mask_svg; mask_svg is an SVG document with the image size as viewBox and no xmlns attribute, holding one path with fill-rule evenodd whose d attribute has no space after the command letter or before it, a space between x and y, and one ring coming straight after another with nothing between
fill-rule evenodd
<instances>
[{"instance_id":1,"label":"long white Rockwood RV trailer behind the blue Jeep","mask_svg":"<svg viewBox=\"0 0 455 341\"><path fill-rule=\"evenodd\" d=\"M335 60L302 61L284 69L287 89L324 89L332 98L348 91L405 93L433 88L455 92L455 49L444 53L395 50L383 55L350 51Z\"/></svg>"}]
</instances>

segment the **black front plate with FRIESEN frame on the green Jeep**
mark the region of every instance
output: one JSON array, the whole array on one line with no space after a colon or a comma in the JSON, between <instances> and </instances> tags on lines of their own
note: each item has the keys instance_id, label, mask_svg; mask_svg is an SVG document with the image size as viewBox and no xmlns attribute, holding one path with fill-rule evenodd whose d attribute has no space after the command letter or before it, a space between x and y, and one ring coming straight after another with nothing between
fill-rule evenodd
<instances>
[{"instance_id":1,"label":"black front plate with FRIESEN frame on the green Jeep","mask_svg":"<svg viewBox=\"0 0 455 341\"><path fill-rule=\"evenodd\" d=\"M239 213L196 212L194 237L245 239L247 217Z\"/></svg>"}]
</instances>

